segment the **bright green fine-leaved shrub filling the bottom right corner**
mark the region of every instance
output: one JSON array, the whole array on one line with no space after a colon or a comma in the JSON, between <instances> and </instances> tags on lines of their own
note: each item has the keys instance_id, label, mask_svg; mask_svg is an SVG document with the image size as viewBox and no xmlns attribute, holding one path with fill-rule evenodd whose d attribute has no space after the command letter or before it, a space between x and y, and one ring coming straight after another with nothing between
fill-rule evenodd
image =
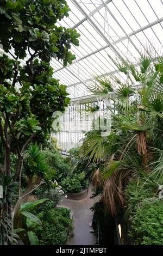
<instances>
[{"instance_id":1,"label":"bright green fine-leaved shrub filling the bottom right corner","mask_svg":"<svg viewBox=\"0 0 163 256\"><path fill-rule=\"evenodd\" d=\"M135 245L163 244L163 201L143 200L131 217L130 237Z\"/></svg>"}]
</instances>

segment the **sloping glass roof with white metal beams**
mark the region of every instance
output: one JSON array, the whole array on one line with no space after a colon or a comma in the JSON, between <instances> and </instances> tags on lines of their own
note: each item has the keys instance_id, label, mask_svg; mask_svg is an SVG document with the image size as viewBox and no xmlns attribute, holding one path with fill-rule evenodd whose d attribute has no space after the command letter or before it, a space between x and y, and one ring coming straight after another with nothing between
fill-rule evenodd
<instances>
[{"instance_id":1,"label":"sloping glass roof with white metal beams","mask_svg":"<svg viewBox=\"0 0 163 256\"><path fill-rule=\"evenodd\" d=\"M76 28L79 46L71 47L76 60L66 68L53 59L54 76L67 86L72 99L87 97L95 76L115 76L123 80L109 59L123 57L136 63L139 52L151 44L156 52L163 48L162 0L66 0L69 17L58 22Z\"/></svg>"}]
</instances>

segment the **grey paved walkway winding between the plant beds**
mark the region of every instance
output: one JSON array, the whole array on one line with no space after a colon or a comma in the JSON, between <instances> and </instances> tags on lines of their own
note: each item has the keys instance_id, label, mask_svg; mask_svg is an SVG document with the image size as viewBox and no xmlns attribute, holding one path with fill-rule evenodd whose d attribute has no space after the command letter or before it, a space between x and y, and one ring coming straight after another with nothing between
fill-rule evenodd
<instances>
[{"instance_id":1,"label":"grey paved walkway winding between the plant beds","mask_svg":"<svg viewBox=\"0 0 163 256\"><path fill-rule=\"evenodd\" d=\"M93 212L90 208L98 198L90 199L93 193L93 186L89 186L87 197L82 200L64 199L60 206L67 206L73 211L74 235L67 242L67 245L95 245L96 237L90 233L92 227Z\"/></svg>"}]
</instances>

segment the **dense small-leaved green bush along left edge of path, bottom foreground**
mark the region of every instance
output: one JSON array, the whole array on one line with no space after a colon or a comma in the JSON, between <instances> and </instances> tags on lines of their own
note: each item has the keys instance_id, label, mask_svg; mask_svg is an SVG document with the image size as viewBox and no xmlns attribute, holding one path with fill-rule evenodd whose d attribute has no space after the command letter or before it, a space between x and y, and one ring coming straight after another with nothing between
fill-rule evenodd
<instances>
[{"instance_id":1,"label":"dense small-leaved green bush along left edge of path, bottom foreground","mask_svg":"<svg viewBox=\"0 0 163 256\"><path fill-rule=\"evenodd\" d=\"M42 221L41 227L35 226L34 228L40 245L66 244L73 230L69 209L54 208L54 203L47 201L35 207L33 213Z\"/></svg>"}]
</instances>

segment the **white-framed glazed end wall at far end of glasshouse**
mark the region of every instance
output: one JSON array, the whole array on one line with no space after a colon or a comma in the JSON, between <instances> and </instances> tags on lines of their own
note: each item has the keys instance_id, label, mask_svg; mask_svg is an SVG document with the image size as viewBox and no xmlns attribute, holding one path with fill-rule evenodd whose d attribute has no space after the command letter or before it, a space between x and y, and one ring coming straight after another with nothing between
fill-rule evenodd
<instances>
[{"instance_id":1,"label":"white-framed glazed end wall at far end of glasshouse","mask_svg":"<svg viewBox=\"0 0 163 256\"><path fill-rule=\"evenodd\" d=\"M91 109L99 107L97 112L92 113ZM102 126L101 119L109 120L108 102L96 97L91 102L72 101L66 113L61 116L61 130L53 134L58 140L59 146L63 150L79 147L83 142L85 131L99 130ZM111 106L111 101L109 101ZM105 130L105 127L104 127Z\"/></svg>"}]
</instances>

